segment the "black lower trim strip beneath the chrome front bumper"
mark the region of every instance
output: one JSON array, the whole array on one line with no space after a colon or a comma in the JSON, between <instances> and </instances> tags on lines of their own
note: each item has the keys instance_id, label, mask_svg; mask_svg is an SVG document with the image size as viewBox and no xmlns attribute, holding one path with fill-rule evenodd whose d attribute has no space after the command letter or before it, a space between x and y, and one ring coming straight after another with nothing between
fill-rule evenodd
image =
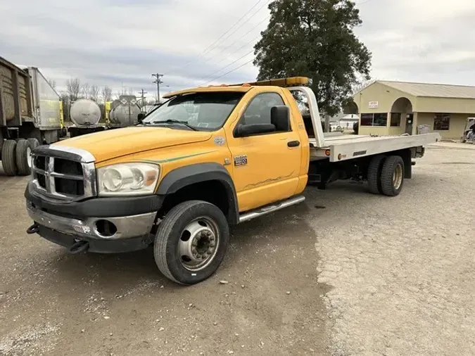
<instances>
[{"instance_id":1,"label":"black lower trim strip beneath the chrome front bumper","mask_svg":"<svg viewBox=\"0 0 475 356\"><path fill-rule=\"evenodd\" d=\"M76 240L87 241L89 247L86 252L90 253L127 253L144 250L152 243L150 236L137 236L132 239L118 240L78 238L77 236L63 234L59 231L48 229L42 225L39 225L39 231L37 234L42 236L43 239L65 248L71 248L76 243Z\"/></svg>"}]
</instances>

